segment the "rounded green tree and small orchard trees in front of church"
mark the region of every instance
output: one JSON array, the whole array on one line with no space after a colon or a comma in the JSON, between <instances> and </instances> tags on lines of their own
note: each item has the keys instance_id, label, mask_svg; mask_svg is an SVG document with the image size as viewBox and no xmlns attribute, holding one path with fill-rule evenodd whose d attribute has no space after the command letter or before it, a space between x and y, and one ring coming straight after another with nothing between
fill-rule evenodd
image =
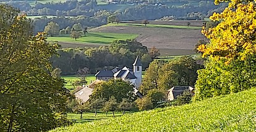
<instances>
[{"instance_id":1,"label":"rounded green tree and small orchard trees in front of church","mask_svg":"<svg viewBox=\"0 0 256 132\"><path fill-rule=\"evenodd\" d=\"M131 111L135 108L135 99L137 96L134 95L134 86L130 85L129 82L123 80L109 80L108 82L96 83L93 86L94 90L90 99L86 103L73 102L70 100L70 109L73 112L82 114L83 112L101 110L106 112L112 112L114 116L115 111Z\"/></svg>"}]
</instances>

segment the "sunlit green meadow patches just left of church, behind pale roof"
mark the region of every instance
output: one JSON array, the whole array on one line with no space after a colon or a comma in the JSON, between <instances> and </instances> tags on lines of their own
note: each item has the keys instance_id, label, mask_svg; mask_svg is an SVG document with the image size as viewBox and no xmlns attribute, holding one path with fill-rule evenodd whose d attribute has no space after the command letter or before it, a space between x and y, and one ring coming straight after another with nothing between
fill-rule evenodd
<instances>
[{"instance_id":1,"label":"sunlit green meadow patches just left of church, behind pale roof","mask_svg":"<svg viewBox=\"0 0 256 132\"><path fill-rule=\"evenodd\" d=\"M61 78L64 79L66 82L64 87L70 91L75 89L74 86L72 85L72 83L75 82L75 80L79 80L79 77L77 77L77 76L61 76ZM87 84L90 84L91 82L96 80L96 77L94 75L90 74L86 77L86 80L87 80Z\"/></svg>"}]
</instances>

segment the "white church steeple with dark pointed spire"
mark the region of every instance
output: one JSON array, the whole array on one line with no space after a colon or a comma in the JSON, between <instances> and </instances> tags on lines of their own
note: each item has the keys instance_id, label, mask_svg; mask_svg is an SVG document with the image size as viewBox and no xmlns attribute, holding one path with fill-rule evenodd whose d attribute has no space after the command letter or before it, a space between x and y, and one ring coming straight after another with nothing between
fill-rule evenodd
<instances>
[{"instance_id":1,"label":"white church steeple with dark pointed spire","mask_svg":"<svg viewBox=\"0 0 256 132\"><path fill-rule=\"evenodd\" d=\"M134 61L134 75L137 77L135 87L139 88L142 83L142 63L140 62L139 56Z\"/></svg>"}]
</instances>

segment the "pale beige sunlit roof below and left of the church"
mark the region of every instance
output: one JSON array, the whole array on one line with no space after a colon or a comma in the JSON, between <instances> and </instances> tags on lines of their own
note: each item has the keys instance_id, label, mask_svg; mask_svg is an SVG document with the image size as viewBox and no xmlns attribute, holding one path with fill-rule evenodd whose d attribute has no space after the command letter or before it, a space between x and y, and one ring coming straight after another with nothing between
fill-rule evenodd
<instances>
[{"instance_id":1,"label":"pale beige sunlit roof below and left of the church","mask_svg":"<svg viewBox=\"0 0 256 132\"><path fill-rule=\"evenodd\" d=\"M88 99L90 99L92 91L92 88L83 87L82 90L79 90L77 91L77 93L75 93L75 98L79 98L82 100L83 103L85 103L86 101L88 101Z\"/></svg>"}]
</instances>

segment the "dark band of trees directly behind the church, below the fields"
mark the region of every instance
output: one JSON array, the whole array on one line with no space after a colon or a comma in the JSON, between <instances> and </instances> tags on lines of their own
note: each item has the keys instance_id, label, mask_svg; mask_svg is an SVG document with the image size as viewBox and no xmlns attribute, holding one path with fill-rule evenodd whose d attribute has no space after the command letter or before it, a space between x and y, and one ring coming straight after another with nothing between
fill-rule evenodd
<instances>
[{"instance_id":1,"label":"dark band of trees directly behind the church, below the fields","mask_svg":"<svg viewBox=\"0 0 256 132\"><path fill-rule=\"evenodd\" d=\"M143 68L159 56L158 49L153 47L149 52L147 47L136 40L113 41L109 47L58 49L58 56L53 56L51 61L54 68L60 68L62 75L74 75L79 69L87 67L90 74L116 66L132 68L136 56L141 56Z\"/></svg>"}]
</instances>

